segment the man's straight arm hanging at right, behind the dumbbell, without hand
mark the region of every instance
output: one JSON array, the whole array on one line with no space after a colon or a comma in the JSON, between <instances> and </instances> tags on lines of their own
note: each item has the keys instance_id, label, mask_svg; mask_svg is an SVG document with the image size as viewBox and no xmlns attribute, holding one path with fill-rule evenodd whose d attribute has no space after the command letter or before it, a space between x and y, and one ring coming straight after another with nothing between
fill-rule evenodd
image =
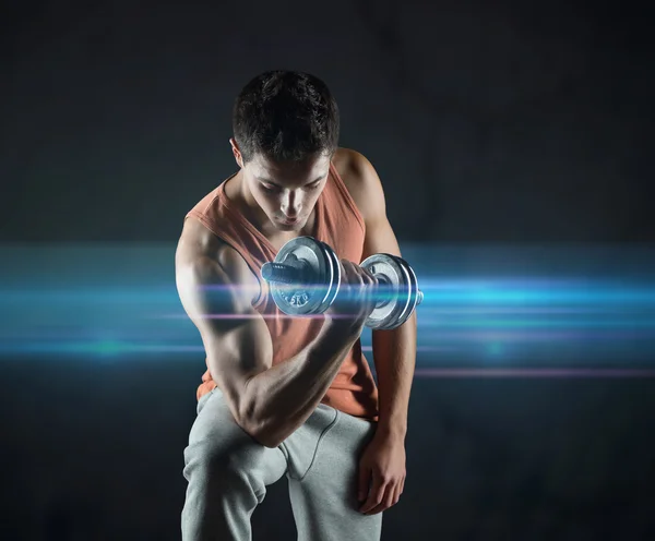
<instances>
[{"instance_id":1,"label":"man's straight arm hanging at right, behind the dumbbell, without hand","mask_svg":"<svg viewBox=\"0 0 655 541\"><path fill-rule=\"evenodd\" d=\"M344 176L352 177L348 188L366 223L362 261L376 253L401 256L376 169L361 154L347 152ZM372 346L380 404L378 433L404 440L416 365L416 313L395 329L372 330Z\"/></svg>"}]
</instances>

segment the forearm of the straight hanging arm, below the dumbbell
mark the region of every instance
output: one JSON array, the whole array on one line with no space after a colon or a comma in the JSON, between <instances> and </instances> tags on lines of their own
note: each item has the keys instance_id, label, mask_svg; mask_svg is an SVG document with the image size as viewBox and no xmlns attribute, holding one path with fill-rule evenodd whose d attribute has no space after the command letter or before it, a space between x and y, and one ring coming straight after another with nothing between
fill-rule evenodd
<instances>
[{"instance_id":1,"label":"forearm of the straight hanging arm, below the dumbbell","mask_svg":"<svg viewBox=\"0 0 655 541\"><path fill-rule=\"evenodd\" d=\"M404 438L416 365L416 313L397 328L373 330L372 346L378 373L378 433Z\"/></svg>"}]
</instances>

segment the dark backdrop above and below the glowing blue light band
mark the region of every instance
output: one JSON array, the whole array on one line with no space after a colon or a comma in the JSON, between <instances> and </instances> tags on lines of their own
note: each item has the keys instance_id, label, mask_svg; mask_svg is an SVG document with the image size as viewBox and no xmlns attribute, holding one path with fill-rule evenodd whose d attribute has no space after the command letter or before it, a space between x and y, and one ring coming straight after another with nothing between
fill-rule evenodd
<instances>
[{"instance_id":1,"label":"dark backdrop above and below the glowing blue light band","mask_svg":"<svg viewBox=\"0 0 655 541\"><path fill-rule=\"evenodd\" d=\"M377 167L401 244L655 243L645 9L2 10L5 249L174 248L186 212L235 169L236 94L277 68L330 85L342 146ZM179 539L203 362L3 359L0 537ZM416 378L406 490L383 539L655 538L654 392L647 378ZM253 522L255 539L294 539L283 484Z\"/></svg>"}]
</instances>

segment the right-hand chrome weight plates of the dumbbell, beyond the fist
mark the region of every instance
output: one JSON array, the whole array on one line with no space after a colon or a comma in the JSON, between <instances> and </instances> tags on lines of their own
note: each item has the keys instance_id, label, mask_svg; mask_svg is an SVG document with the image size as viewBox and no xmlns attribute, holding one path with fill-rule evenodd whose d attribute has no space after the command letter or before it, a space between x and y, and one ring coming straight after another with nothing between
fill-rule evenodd
<instances>
[{"instance_id":1,"label":"right-hand chrome weight plates of the dumbbell, beyond the fist","mask_svg":"<svg viewBox=\"0 0 655 541\"><path fill-rule=\"evenodd\" d=\"M377 305L368 316L366 326L389 330L401 326L414 312L418 300L418 281L409 264L391 254L374 254L360 265L380 281Z\"/></svg>"}]
</instances>

